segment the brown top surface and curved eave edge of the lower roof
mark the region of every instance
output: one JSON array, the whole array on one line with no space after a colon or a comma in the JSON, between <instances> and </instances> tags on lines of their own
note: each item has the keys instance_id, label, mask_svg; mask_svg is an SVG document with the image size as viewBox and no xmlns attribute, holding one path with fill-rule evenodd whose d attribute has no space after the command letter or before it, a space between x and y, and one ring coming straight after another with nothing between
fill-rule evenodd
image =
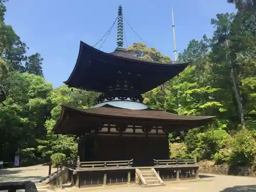
<instances>
[{"instance_id":1,"label":"brown top surface and curved eave edge of the lower roof","mask_svg":"<svg viewBox=\"0 0 256 192\"><path fill-rule=\"evenodd\" d=\"M163 123L165 125L179 125L181 127L181 130L189 130L193 129L198 126L202 126L205 124L208 124L212 119L214 119L214 116L210 117L200 117L200 116L181 116L177 114L171 114L161 111L155 111L155 110L126 110L126 109L120 109L120 108L109 108L106 106L101 106L99 108L91 108L91 109L76 109L71 108L67 105L62 105L61 108L61 116L57 120L56 125L53 128L53 132L55 133L64 133L68 134L69 131L61 131L61 127L65 126L65 123L69 121L71 123L72 117L68 119L69 115L73 114L72 116L78 117L83 116L89 118L90 117L96 117L99 120L102 119L121 119L122 121L129 120L129 122L155 122L155 125L158 125L159 123ZM155 114L155 115L153 115ZM144 115L144 116L143 116ZM169 118L168 118L169 117ZM113 120L113 122L115 122ZM79 123L79 122L77 122ZM104 123L104 122L102 122ZM139 125L139 124L138 124ZM82 125L81 125L82 126ZM170 126L170 130L173 130L175 127ZM70 127L72 130L72 127ZM78 126L76 127L78 129ZM87 129L87 127L83 126L83 130Z\"/></svg>"}]
</instances>

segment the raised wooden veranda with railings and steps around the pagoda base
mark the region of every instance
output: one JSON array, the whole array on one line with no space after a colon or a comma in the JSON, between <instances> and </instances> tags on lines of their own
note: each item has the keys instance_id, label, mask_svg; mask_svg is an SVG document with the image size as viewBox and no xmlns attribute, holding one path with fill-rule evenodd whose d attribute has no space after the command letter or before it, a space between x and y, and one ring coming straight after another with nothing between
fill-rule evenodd
<instances>
[{"instance_id":1,"label":"raised wooden veranda with railings and steps around the pagoda base","mask_svg":"<svg viewBox=\"0 0 256 192\"><path fill-rule=\"evenodd\" d=\"M76 187L113 184L164 184L164 181L197 179L195 159L155 160L154 166L134 167L133 159L126 161L68 161L62 166L62 174L53 184L70 182ZM57 183L56 183L57 182Z\"/></svg>"}]
</instances>

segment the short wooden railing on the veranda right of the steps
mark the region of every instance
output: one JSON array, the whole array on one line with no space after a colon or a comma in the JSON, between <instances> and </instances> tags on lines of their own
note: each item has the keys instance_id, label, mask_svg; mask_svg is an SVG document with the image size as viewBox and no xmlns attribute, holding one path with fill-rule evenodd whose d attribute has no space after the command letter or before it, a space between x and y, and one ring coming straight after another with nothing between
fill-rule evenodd
<instances>
[{"instance_id":1,"label":"short wooden railing on the veranda right of the steps","mask_svg":"<svg viewBox=\"0 0 256 192\"><path fill-rule=\"evenodd\" d=\"M167 159L154 160L155 166L178 166L178 165L195 165L196 159Z\"/></svg>"}]
</instances>

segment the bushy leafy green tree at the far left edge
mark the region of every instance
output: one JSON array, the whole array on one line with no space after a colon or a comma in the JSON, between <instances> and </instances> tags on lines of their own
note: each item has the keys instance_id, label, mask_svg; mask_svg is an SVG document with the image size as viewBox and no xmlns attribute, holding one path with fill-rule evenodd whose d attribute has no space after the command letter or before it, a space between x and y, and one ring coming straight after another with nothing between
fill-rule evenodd
<instances>
[{"instance_id":1,"label":"bushy leafy green tree at the far left edge","mask_svg":"<svg viewBox=\"0 0 256 192\"><path fill-rule=\"evenodd\" d=\"M8 95L0 104L0 131L5 133L0 136L0 156L10 161L17 148L36 151L36 139L46 132L52 86L42 77L19 72L9 73L6 85Z\"/></svg>"}]
</instances>

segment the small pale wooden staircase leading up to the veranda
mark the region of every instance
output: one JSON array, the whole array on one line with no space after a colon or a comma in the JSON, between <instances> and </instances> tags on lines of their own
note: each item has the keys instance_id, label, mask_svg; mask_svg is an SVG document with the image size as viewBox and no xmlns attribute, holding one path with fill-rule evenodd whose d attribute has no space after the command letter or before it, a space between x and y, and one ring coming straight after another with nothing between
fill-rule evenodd
<instances>
[{"instance_id":1,"label":"small pale wooden staircase leading up to the veranda","mask_svg":"<svg viewBox=\"0 0 256 192\"><path fill-rule=\"evenodd\" d=\"M136 175L142 186L164 185L164 182L154 168L136 168Z\"/></svg>"}]
</instances>

